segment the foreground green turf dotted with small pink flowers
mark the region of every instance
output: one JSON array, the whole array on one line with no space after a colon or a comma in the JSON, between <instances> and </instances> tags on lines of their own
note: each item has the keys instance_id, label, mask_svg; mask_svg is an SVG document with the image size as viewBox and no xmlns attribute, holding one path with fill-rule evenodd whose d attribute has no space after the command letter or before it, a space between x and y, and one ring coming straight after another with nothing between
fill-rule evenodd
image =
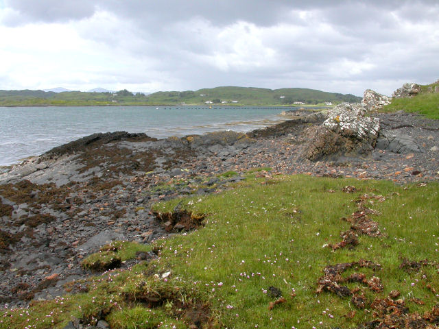
<instances>
[{"instance_id":1,"label":"foreground green turf dotted with small pink flowers","mask_svg":"<svg viewBox=\"0 0 439 329\"><path fill-rule=\"evenodd\" d=\"M355 186L357 192L343 193L346 185ZM372 312L355 309L349 298L316 294L316 288L325 266L360 258L381 264L381 270L356 271L368 278L378 276L383 292L374 293L356 282L349 283L349 288L363 290L368 304L397 289L410 312L422 314L438 302L427 289L430 284L439 291L438 269L429 266L407 273L399 265L403 258L438 259L438 192L437 183L397 186L386 181L295 175L248 178L217 195L156 204L154 210L167 212L182 202L188 210L209 214L206 226L157 241L159 260L93 278L88 293L66 296L62 305L58 299L38 302L28 310L4 310L0 326L62 328L71 315L93 322L101 314L112 328L157 328L154 321L158 320L170 328L187 328L189 321L178 305L202 303L208 306L214 327L352 328L370 321ZM340 241L340 232L349 228L341 218L355 212L353 200L366 193L385 197L383 202L372 199L367 204L380 212L371 219L385 235L360 236L354 249L331 252L323 247ZM276 298L265 293L270 286L281 289L286 299L272 310L268 306ZM148 308L149 296L157 295L161 304ZM425 305L412 302L412 297ZM344 316L351 310L356 311L353 319ZM151 317L152 312L156 317Z\"/></svg>"}]
</instances>

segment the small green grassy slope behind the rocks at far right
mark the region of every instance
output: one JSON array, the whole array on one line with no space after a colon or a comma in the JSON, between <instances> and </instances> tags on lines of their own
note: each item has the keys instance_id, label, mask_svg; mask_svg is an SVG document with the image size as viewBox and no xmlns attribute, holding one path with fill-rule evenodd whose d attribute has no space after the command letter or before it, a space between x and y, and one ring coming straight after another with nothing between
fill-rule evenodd
<instances>
[{"instance_id":1,"label":"small green grassy slope behind the rocks at far right","mask_svg":"<svg viewBox=\"0 0 439 329\"><path fill-rule=\"evenodd\" d=\"M392 103L383 108L383 112L396 112L399 110L423 114L429 119L439 119L439 94L421 93L413 98L396 98L392 99Z\"/></svg>"}]
</instances>

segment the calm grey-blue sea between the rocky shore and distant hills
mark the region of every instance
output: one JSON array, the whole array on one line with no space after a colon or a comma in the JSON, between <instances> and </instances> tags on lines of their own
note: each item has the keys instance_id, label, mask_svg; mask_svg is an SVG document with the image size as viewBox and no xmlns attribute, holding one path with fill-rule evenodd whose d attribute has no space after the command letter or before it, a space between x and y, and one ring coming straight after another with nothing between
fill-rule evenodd
<instances>
[{"instance_id":1,"label":"calm grey-blue sea between the rocky shore and distant hills","mask_svg":"<svg viewBox=\"0 0 439 329\"><path fill-rule=\"evenodd\" d=\"M283 118L286 108L213 106L0 107L0 166L95 132L165 138L217 130L248 132Z\"/></svg>"}]
</instances>

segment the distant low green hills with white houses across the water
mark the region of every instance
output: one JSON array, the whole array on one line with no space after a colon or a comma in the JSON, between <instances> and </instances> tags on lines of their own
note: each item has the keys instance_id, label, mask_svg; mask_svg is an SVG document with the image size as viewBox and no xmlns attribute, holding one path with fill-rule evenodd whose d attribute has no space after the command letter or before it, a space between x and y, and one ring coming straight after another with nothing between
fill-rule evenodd
<instances>
[{"instance_id":1,"label":"distant low green hills with white houses across the water","mask_svg":"<svg viewBox=\"0 0 439 329\"><path fill-rule=\"evenodd\" d=\"M161 91L151 95L134 95L128 90L117 93L84 93L71 91L64 93L43 90L0 90L0 106L158 106L158 105L215 105L233 106L290 106L324 105L342 101L358 102L361 97L327 93L305 88L244 88L217 87L187 91Z\"/></svg>"}]
</instances>

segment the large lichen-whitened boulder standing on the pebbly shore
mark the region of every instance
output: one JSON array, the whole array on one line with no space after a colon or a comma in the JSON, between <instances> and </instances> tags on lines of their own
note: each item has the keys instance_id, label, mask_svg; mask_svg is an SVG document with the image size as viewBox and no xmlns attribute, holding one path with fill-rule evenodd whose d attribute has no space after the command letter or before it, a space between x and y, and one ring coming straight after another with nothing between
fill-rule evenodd
<instances>
[{"instance_id":1,"label":"large lichen-whitened boulder standing on the pebbly shore","mask_svg":"<svg viewBox=\"0 0 439 329\"><path fill-rule=\"evenodd\" d=\"M328 112L328 119L313 132L301 157L311 161L337 156L369 154L375 147L379 119L366 116L362 104L342 103Z\"/></svg>"}]
</instances>

